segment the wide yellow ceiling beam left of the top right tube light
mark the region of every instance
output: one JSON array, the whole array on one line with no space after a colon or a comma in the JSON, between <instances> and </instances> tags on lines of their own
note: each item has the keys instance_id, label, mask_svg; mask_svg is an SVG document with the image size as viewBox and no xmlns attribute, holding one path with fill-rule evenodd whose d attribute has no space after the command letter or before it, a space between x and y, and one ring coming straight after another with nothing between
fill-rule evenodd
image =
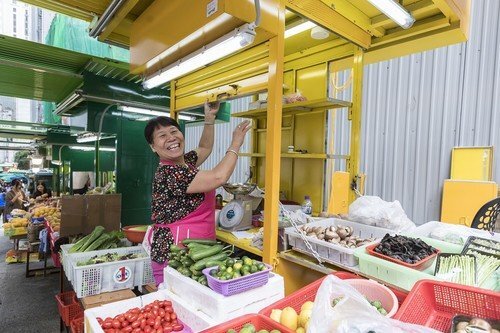
<instances>
[{"instance_id":1,"label":"wide yellow ceiling beam left of the top right tube light","mask_svg":"<svg viewBox=\"0 0 500 333\"><path fill-rule=\"evenodd\" d=\"M371 45L368 32L320 0L287 0L286 7L362 48Z\"/></svg>"}]
</instances>

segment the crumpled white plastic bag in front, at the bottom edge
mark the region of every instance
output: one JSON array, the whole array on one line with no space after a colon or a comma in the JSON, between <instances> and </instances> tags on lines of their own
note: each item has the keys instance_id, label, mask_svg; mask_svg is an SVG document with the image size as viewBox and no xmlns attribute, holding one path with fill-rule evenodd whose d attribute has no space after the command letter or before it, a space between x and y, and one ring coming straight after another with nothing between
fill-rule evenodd
<instances>
[{"instance_id":1,"label":"crumpled white plastic bag in front, at the bottom edge","mask_svg":"<svg viewBox=\"0 0 500 333\"><path fill-rule=\"evenodd\" d=\"M334 299L342 299L333 307ZM328 275L316 294L307 333L436 333L381 315L356 289Z\"/></svg>"}]
</instances>

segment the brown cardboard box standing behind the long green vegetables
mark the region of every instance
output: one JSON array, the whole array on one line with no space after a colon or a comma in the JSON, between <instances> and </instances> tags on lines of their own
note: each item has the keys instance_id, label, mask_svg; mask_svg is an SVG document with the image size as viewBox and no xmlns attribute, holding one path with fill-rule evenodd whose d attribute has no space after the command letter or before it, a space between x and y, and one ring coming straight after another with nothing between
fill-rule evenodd
<instances>
[{"instance_id":1,"label":"brown cardboard box standing behind the long green vegetables","mask_svg":"<svg viewBox=\"0 0 500 333\"><path fill-rule=\"evenodd\" d=\"M60 236L89 234L98 225L108 232L119 230L121 201L121 194L63 196Z\"/></svg>"}]
</instances>

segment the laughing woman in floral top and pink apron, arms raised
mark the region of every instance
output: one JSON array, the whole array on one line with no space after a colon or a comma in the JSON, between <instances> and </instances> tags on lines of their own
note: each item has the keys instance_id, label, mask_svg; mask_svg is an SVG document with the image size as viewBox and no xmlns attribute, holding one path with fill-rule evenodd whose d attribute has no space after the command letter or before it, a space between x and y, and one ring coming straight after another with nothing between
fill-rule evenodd
<instances>
[{"instance_id":1,"label":"laughing woman in floral top and pink apron, arms raised","mask_svg":"<svg viewBox=\"0 0 500 333\"><path fill-rule=\"evenodd\" d=\"M248 120L239 124L226 155L212 170L198 167L210 156L214 144L215 116L219 103L205 103L205 125L198 148L184 152L184 135L169 117L151 119L144 136L160 157L153 180L154 224L145 236L151 244L151 263L156 284L163 282L170 246L185 238L215 239L215 189L226 183L236 166L238 151L250 129Z\"/></svg>"}]
</instances>

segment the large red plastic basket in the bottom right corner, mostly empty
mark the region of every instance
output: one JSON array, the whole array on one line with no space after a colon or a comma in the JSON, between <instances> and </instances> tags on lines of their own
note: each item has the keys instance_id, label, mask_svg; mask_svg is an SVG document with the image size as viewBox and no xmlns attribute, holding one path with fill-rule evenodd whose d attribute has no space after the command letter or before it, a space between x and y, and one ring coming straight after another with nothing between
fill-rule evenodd
<instances>
[{"instance_id":1,"label":"large red plastic basket in the bottom right corner, mostly empty","mask_svg":"<svg viewBox=\"0 0 500 333\"><path fill-rule=\"evenodd\" d=\"M394 319L448 332L456 314L500 319L500 293L449 282L421 280Z\"/></svg>"}]
</instances>

